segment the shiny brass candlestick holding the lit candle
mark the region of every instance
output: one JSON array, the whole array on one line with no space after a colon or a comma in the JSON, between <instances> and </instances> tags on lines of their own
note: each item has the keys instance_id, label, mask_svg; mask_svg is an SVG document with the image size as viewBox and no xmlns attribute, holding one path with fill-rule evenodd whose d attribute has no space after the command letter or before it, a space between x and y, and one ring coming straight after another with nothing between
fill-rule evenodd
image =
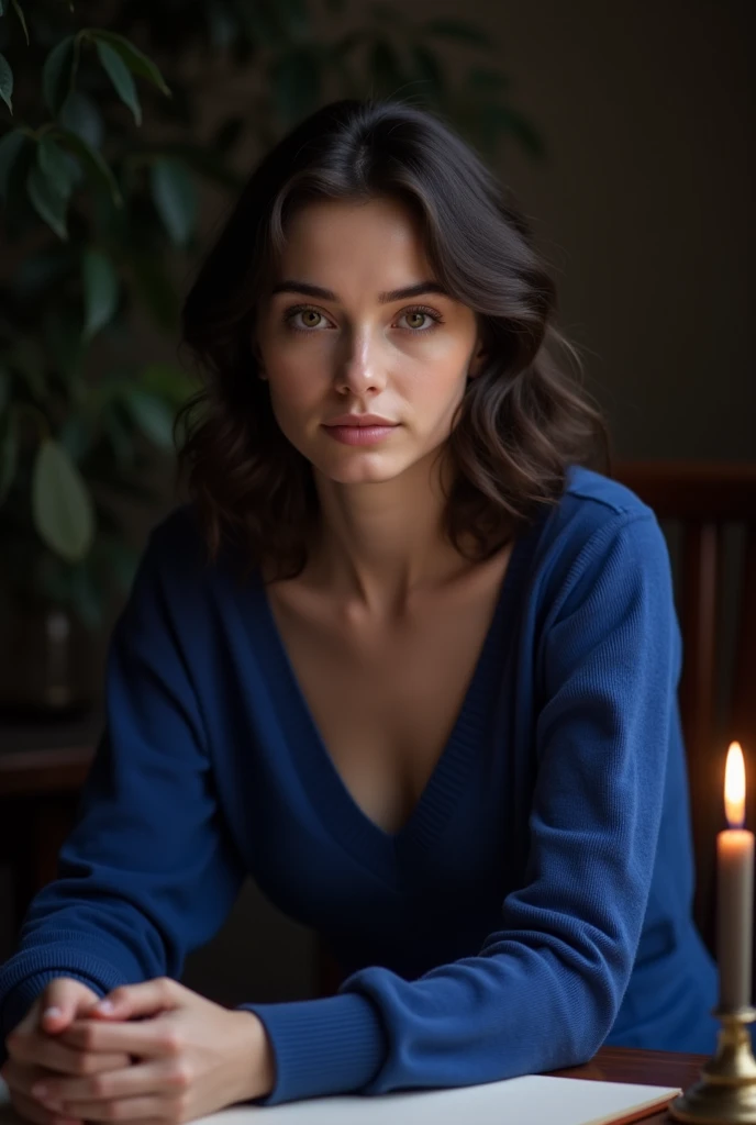
<instances>
[{"instance_id":1,"label":"shiny brass candlestick holding the lit candle","mask_svg":"<svg viewBox=\"0 0 756 1125\"><path fill-rule=\"evenodd\" d=\"M756 1008L714 1008L721 1028L717 1053L701 1078L669 1106L669 1115L694 1125L756 1125L756 1059L748 1024Z\"/></svg>"}]
</instances>

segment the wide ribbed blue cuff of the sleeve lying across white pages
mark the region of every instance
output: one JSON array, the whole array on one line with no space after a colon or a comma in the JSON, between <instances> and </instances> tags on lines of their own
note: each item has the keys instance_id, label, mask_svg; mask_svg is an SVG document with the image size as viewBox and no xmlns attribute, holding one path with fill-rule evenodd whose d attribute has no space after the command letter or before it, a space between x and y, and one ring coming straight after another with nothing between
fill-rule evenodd
<instances>
[{"instance_id":1,"label":"wide ribbed blue cuff of the sleeve lying across white pages","mask_svg":"<svg viewBox=\"0 0 756 1125\"><path fill-rule=\"evenodd\" d=\"M276 1082L261 1106L359 1090L386 1058L386 1034L371 1000L344 992L321 1000L240 1004L264 1024Z\"/></svg>"}]
</instances>

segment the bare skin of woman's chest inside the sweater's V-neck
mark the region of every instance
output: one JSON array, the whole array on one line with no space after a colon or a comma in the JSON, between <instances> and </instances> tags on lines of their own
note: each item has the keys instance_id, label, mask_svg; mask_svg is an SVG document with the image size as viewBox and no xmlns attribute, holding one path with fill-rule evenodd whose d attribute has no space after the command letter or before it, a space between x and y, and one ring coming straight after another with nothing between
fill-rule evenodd
<instances>
[{"instance_id":1,"label":"bare skin of woman's chest inside the sweater's V-neck","mask_svg":"<svg viewBox=\"0 0 756 1125\"><path fill-rule=\"evenodd\" d=\"M510 555L507 546L390 622L360 619L306 580L268 586L331 760L384 831L406 824L451 735Z\"/></svg>"}]
</instances>

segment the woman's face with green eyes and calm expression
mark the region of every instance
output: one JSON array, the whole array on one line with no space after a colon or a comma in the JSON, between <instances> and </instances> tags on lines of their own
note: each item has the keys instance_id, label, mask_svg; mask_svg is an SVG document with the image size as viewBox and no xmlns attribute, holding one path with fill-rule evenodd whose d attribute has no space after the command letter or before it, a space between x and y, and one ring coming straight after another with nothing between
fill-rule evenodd
<instances>
[{"instance_id":1,"label":"woman's face with green eyes and calm expression","mask_svg":"<svg viewBox=\"0 0 756 1125\"><path fill-rule=\"evenodd\" d=\"M287 235L255 326L278 424L331 480L396 477L449 435L480 358L476 316L440 291L399 202L308 204ZM390 426L331 425L345 414Z\"/></svg>"}]
</instances>

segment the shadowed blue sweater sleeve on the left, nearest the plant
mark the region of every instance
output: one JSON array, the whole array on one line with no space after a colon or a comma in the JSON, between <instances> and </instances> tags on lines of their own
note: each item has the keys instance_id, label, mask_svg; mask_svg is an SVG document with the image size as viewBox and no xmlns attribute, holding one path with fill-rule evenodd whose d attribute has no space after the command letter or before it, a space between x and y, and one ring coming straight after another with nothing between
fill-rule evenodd
<instances>
[{"instance_id":1,"label":"shadowed blue sweater sleeve on the left, nearest the plant","mask_svg":"<svg viewBox=\"0 0 756 1125\"><path fill-rule=\"evenodd\" d=\"M180 976L186 953L219 928L244 876L218 814L198 694L165 596L181 561L156 548L158 536L111 639L106 731L57 879L33 900L19 947L0 968L2 1060L6 1036L54 976L98 994ZM184 636L192 624L183 622Z\"/></svg>"}]
</instances>

